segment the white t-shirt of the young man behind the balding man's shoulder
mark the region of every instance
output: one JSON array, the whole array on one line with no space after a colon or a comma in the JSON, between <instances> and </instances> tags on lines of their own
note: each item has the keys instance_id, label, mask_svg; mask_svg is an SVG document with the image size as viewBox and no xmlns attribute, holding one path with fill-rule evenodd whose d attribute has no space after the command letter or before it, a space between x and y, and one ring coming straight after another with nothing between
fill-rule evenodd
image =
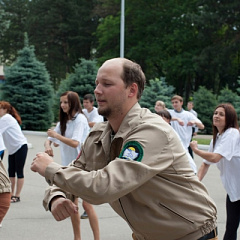
<instances>
[{"instance_id":1,"label":"white t-shirt of the young man behind the balding man's shoulder","mask_svg":"<svg viewBox=\"0 0 240 240\"><path fill-rule=\"evenodd\" d=\"M185 111L183 109L181 112L176 112L173 109L168 109L168 111L171 114L172 118L180 118L184 122L184 126L181 126L178 121L171 121L171 125L181 138L184 148L188 149L190 141L192 139L192 127L194 126L187 126L187 123L191 120L199 123L202 122L191 112Z\"/></svg>"}]
</instances>

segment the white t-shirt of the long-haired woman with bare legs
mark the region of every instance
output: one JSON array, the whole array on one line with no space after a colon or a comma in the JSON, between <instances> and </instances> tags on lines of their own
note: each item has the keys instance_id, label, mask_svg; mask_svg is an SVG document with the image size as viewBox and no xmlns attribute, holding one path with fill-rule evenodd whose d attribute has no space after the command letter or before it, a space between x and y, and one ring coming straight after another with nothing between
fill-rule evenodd
<instances>
[{"instance_id":1,"label":"white t-shirt of the long-haired woman with bare legs","mask_svg":"<svg viewBox=\"0 0 240 240\"><path fill-rule=\"evenodd\" d=\"M69 120L67 122L65 137L78 141L79 144L77 148L70 147L69 145L59 141L56 138L48 137L50 141L60 145L61 160L63 166L67 166L69 163L76 159L78 153L81 150L82 144L89 134L87 118L81 113L76 114L75 116L76 118L74 120ZM54 131L56 131L58 134L61 134L59 122Z\"/></svg>"}]
</instances>

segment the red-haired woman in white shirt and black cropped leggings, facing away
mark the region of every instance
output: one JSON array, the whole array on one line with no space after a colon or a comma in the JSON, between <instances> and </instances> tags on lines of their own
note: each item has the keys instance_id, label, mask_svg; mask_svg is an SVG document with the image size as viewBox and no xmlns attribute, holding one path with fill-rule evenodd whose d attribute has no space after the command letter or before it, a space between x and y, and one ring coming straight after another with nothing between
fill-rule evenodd
<instances>
[{"instance_id":1,"label":"red-haired woman in white shirt and black cropped leggings, facing away","mask_svg":"<svg viewBox=\"0 0 240 240\"><path fill-rule=\"evenodd\" d=\"M12 185L12 203L20 202L28 152L27 139L21 131L21 124L21 117L16 109L9 102L0 101L0 134L9 153L8 174Z\"/></svg>"}]
</instances>

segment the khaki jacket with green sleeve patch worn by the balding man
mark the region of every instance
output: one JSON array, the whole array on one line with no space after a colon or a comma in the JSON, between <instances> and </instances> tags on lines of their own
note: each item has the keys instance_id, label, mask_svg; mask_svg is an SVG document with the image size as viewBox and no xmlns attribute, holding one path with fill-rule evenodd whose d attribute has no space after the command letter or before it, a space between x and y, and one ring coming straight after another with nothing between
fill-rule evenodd
<instances>
[{"instance_id":1,"label":"khaki jacket with green sleeve patch worn by the balding man","mask_svg":"<svg viewBox=\"0 0 240 240\"><path fill-rule=\"evenodd\" d=\"M48 166L46 210L56 195L109 203L138 240L193 240L216 227L215 203L160 116L136 104L111 135L108 122L95 124L79 159Z\"/></svg>"}]
</instances>

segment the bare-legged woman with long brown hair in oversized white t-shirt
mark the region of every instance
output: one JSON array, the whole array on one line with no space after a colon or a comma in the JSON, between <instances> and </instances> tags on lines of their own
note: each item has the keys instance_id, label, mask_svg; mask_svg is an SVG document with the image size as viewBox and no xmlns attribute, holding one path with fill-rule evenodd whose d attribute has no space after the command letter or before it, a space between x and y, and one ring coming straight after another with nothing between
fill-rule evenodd
<instances>
[{"instance_id":1,"label":"bare-legged woman with long brown hair in oversized white t-shirt","mask_svg":"<svg viewBox=\"0 0 240 240\"><path fill-rule=\"evenodd\" d=\"M88 121L82 112L80 99L76 92L67 91L61 95L59 119L60 122L56 128L47 131L49 137L45 142L45 152L53 156L51 143L53 143L55 147L60 146L62 165L67 166L77 158L81 151L81 146L89 133ZM78 205L78 198L75 199L74 203ZM94 240L99 240L99 226L95 210L91 204L85 201L82 201L82 205L89 216ZM74 240L80 240L79 214L74 214L71 220Z\"/></svg>"}]
</instances>

